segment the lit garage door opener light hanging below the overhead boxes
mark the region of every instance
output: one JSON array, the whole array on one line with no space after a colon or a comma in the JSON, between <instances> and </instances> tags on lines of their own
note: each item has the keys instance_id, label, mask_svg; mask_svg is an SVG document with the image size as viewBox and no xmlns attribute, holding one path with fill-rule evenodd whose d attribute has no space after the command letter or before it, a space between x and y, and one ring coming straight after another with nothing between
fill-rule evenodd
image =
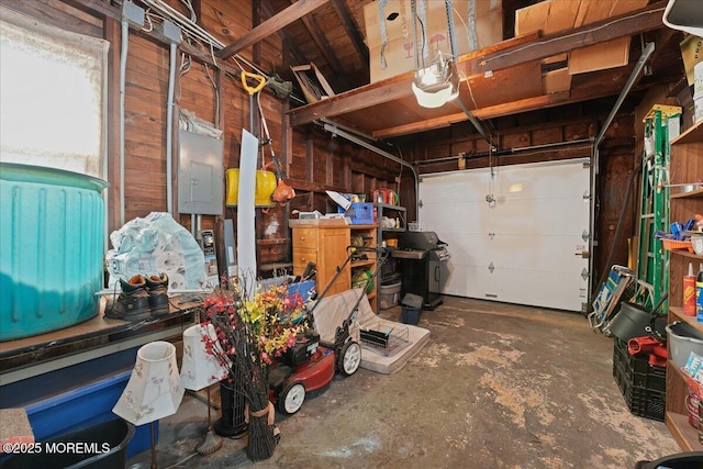
<instances>
[{"instance_id":1,"label":"lit garage door opener light hanging below the overhead boxes","mask_svg":"<svg viewBox=\"0 0 703 469\"><path fill-rule=\"evenodd\" d=\"M439 108L459 94L459 78L456 66L439 53L437 59L415 70L412 83L417 104L423 108Z\"/></svg>"}]
</instances>

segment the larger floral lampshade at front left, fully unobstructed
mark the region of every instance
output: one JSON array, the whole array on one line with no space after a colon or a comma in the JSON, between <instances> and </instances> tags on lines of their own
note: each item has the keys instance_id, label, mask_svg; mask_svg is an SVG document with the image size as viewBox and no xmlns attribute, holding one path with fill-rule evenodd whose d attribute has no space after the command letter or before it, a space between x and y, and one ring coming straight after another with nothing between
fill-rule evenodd
<instances>
[{"instance_id":1,"label":"larger floral lampshade at front left, fully unobstructed","mask_svg":"<svg viewBox=\"0 0 703 469\"><path fill-rule=\"evenodd\" d=\"M152 342L137 350L130 381L112 412L133 425L152 423L175 414L183 392L176 347L168 342Z\"/></svg>"}]
</instances>

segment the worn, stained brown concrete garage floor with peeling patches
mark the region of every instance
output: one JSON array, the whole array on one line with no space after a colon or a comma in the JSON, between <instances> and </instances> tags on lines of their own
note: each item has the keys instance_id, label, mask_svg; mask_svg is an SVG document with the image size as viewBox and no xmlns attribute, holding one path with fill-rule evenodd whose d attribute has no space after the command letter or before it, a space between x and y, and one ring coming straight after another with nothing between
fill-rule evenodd
<instances>
[{"instance_id":1,"label":"worn, stained brown concrete garage floor with peeling patches","mask_svg":"<svg viewBox=\"0 0 703 469\"><path fill-rule=\"evenodd\" d=\"M277 413L281 440L263 462L247 460L246 437L194 454L207 405L186 394L160 421L159 467L621 469L680 451L663 423L631 414L613 339L579 314L447 298L419 326L431 342L397 373L337 376L297 414Z\"/></svg>"}]
</instances>

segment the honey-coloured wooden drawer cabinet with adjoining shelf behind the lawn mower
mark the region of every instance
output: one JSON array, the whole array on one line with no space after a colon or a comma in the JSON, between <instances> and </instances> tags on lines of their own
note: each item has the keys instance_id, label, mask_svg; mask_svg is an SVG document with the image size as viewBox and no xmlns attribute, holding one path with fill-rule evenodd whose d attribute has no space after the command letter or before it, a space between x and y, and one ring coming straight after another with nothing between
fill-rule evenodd
<instances>
[{"instance_id":1,"label":"honey-coloured wooden drawer cabinet with adjoining shelf behind the lawn mower","mask_svg":"<svg viewBox=\"0 0 703 469\"><path fill-rule=\"evenodd\" d=\"M341 225L325 224L324 220L314 220L310 224L291 222L293 231L293 275L302 275L309 263L314 263L317 294L322 294L327 286L326 297L352 288L352 279L359 270L375 271L376 254L368 252L366 259L352 259L347 247L353 245L353 237L360 239L365 246L376 247L376 225ZM337 270L339 275L335 279ZM334 282L333 282L334 279ZM371 308L376 311L376 289L368 294Z\"/></svg>"}]
</instances>

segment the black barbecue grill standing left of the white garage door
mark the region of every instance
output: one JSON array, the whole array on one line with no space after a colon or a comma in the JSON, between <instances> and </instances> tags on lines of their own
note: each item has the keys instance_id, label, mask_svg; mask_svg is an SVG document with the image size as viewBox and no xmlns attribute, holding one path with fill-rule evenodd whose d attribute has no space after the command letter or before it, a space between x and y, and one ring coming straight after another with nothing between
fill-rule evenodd
<instances>
[{"instance_id":1,"label":"black barbecue grill standing left of the white garage door","mask_svg":"<svg viewBox=\"0 0 703 469\"><path fill-rule=\"evenodd\" d=\"M400 265L401 298L405 293L419 294L426 310L442 304L446 263L451 256L447 244L439 241L435 232L404 232L391 256Z\"/></svg>"}]
</instances>

